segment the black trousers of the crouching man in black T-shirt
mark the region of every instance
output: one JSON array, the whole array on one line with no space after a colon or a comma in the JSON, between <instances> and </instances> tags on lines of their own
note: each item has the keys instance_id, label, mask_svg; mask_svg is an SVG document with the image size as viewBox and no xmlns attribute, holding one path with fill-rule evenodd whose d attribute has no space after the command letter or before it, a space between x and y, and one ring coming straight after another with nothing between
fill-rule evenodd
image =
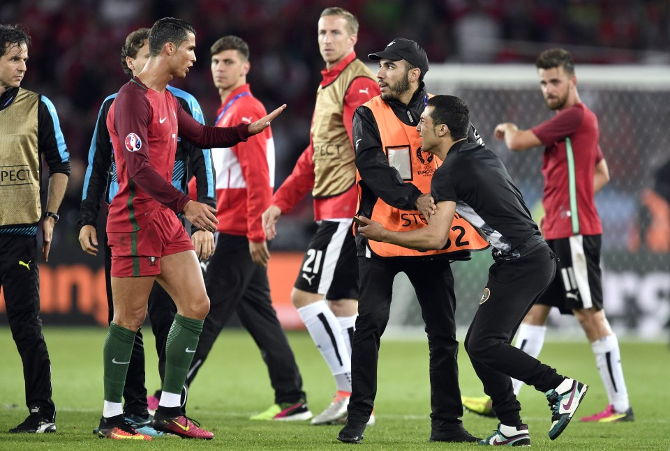
<instances>
[{"instance_id":1,"label":"black trousers of the crouching man in black T-shirt","mask_svg":"<svg viewBox=\"0 0 670 451\"><path fill-rule=\"evenodd\" d=\"M489 268L486 290L465 346L503 425L516 425L521 420L521 404L514 396L510 377L541 392L556 388L564 379L556 369L510 344L521 320L555 274L556 256L546 245L519 259L496 261Z\"/></svg>"}]
</instances>

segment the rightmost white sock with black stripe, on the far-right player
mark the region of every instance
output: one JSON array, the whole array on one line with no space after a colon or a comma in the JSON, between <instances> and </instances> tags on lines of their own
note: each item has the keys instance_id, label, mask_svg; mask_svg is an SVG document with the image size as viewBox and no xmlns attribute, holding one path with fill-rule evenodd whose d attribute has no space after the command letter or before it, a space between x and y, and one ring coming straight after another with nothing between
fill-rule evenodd
<instances>
[{"instance_id":1,"label":"rightmost white sock with black stripe, on the far-right player","mask_svg":"<svg viewBox=\"0 0 670 451\"><path fill-rule=\"evenodd\" d=\"M630 407L628 401L628 390L623 379L623 367L621 366L621 353L616 335L611 334L591 343L595 355L595 365L600 372L600 379L605 386L609 404L614 410L624 413Z\"/></svg>"}]
</instances>

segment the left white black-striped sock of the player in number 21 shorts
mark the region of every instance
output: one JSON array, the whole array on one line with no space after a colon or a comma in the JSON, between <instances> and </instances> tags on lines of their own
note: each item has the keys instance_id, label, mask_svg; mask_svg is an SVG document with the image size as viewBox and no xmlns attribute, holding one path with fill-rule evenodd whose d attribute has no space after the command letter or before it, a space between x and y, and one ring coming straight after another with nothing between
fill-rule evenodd
<instances>
[{"instance_id":1,"label":"left white black-striped sock of the player in number 21 shorts","mask_svg":"<svg viewBox=\"0 0 670 451\"><path fill-rule=\"evenodd\" d=\"M298 314L333 376L350 373L351 357L342 337L342 328L326 301L300 307ZM345 391L351 391L351 388Z\"/></svg>"}]
</instances>

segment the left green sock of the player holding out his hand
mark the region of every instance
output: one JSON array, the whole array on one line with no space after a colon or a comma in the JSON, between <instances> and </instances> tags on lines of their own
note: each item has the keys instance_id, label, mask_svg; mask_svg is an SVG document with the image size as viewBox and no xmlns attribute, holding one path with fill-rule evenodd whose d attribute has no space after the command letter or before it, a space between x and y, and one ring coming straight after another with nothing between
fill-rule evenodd
<instances>
[{"instance_id":1,"label":"left green sock of the player holding out his hand","mask_svg":"<svg viewBox=\"0 0 670 451\"><path fill-rule=\"evenodd\" d=\"M103 347L105 401L121 402L134 343L135 332L110 323Z\"/></svg>"}]
</instances>

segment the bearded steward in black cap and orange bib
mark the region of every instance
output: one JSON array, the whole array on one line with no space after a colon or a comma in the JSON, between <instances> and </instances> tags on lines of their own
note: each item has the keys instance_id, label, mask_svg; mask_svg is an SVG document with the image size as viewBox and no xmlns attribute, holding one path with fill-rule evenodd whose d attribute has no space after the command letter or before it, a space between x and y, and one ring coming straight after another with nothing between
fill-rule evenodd
<instances>
[{"instance_id":1,"label":"bearded steward in black cap and orange bib","mask_svg":"<svg viewBox=\"0 0 670 451\"><path fill-rule=\"evenodd\" d=\"M381 222L390 230L425 227L434 207L430 190L440 162L420 147L417 124L429 94L423 77L428 56L412 40L396 38L382 52L368 55L379 61L381 95L358 107L353 137L358 169L358 215ZM469 141L480 141L474 127ZM471 250L489 243L468 222L454 220L453 235L443 250L418 252L366 240L356 234L361 291L352 342L352 393L347 425L338 439L359 443L377 393L380 337L388 320L393 280L405 273L417 294L430 349L431 441L472 442L463 429L454 318L454 277L449 261L469 259Z\"/></svg>"}]
</instances>

